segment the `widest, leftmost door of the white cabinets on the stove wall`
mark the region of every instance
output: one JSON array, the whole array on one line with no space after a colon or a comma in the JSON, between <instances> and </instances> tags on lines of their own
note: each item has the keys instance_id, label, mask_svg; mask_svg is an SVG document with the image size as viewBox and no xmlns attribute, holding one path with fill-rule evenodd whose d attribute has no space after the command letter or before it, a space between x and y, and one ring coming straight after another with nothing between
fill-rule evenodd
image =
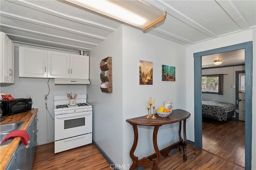
<instances>
[{"instance_id":1,"label":"widest, leftmost door of the white cabinets on the stove wall","mask_svg":"<svg viewBox=\"0 0 256 170\"><path fill-rule=\"evenodd\" d=\"M47 51L19 47L19 76L47 78Z\"/></svg>"}]
</instances>

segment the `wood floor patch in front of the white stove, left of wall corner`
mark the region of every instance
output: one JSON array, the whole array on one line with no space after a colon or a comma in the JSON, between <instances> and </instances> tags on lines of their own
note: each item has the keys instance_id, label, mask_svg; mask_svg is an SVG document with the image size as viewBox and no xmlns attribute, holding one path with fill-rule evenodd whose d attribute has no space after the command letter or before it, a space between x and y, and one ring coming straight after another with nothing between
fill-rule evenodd
<instances>
[{"instance_id":1,"label":"wood floor patch in front of the white stove, left of wall corner","mask_svg":"<svg viewBox=\"0 0 256 170\"><path fill-rule=\"evenodd\" d=\"M54 154L54 143L36 149L32 170L111 170L93 144Z\"/></svg>"}]
</instances>

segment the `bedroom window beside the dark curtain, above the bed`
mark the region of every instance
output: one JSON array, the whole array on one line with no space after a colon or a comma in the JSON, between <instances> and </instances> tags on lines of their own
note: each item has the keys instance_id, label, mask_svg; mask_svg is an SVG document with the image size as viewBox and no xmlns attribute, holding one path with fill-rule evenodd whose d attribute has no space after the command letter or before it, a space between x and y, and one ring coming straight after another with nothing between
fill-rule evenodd
<instances>
[{"instance_id":1,"label":"bedroom window beside the dark curtain, above the bed","mask_svg":"<svg viewBox=\"0 0 256 170\"><path fill-rule=\"evenodd\" d=\"M218 94L219 78L218 75L202 76L202 92Z\"/></svg>"}]
</instances>

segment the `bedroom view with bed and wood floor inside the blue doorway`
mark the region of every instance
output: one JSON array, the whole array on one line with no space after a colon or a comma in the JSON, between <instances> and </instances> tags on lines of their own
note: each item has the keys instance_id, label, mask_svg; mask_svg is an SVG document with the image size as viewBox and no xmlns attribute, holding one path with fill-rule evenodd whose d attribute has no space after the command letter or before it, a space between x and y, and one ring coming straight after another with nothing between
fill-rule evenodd
<instances>
[{"instance_id":1,"label":"bedroom view with bed and wood floor inside the blue doorway","mask_svg":"<svg viewBox=\"0 0 256 170\"><path fill-rule=\"evenodd\" d=\"M244 49L202 56L202 149L245 166L245 123L236 113L236 72L244 72ZM223 63L214 65L213 61ZM220 81L218 74L223 74ZM205 80L207 78L207 81ZM244 77L240 74L240 82ZM218 85L222 82L222 94ZM240 83L244 89L244 84ZM207 87L206 87L207 86ZM241 93L240 93L241 94ZM228 112L228 113L227 113ZM235 114L236 113L236 114ZM240 116L240 114L239 114Z\"/></svg>"}]
</instances>

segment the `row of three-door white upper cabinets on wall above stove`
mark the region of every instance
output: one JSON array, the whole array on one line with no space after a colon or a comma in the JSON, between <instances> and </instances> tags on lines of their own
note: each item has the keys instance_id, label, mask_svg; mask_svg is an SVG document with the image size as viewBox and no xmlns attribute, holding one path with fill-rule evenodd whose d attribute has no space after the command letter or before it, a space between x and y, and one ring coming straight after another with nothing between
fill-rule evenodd
<instances>
[{"instance_id":1,"label":"row of three-door white upper cabinets on wall above stove","mask_svg":"<svg viewBox=\"0 0 256 170\"><path fill-rule=\"evenodd\" d=\"M19 76L89 79L89 56L19 47Z\"/></svg>"}]
</instances>

